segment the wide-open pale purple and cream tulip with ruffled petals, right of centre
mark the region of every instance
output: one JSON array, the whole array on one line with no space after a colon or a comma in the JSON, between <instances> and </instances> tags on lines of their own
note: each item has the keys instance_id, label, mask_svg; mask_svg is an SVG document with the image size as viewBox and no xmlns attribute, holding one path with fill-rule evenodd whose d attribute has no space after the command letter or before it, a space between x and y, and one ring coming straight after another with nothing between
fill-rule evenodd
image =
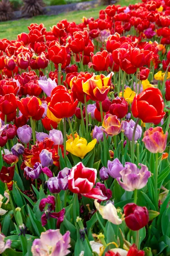
<instances>
[{"instance_id":1,"label":"wide-open pale purple and cream tulip with ruffled petals, right of centre","mask_svg":"<svg viewBox=\"0 0 170 256\"><path fill-rule=\"evenodd\" d=\"M147 166L139 163L141 169L137 168L134 163L125 163L125 168L120 172L121 177L117 178L117 181L120 186L126 191L133 191L135 189L142 189L148 178L151 176L151 172L148 171Z\"/></svg>"}]
</instances>

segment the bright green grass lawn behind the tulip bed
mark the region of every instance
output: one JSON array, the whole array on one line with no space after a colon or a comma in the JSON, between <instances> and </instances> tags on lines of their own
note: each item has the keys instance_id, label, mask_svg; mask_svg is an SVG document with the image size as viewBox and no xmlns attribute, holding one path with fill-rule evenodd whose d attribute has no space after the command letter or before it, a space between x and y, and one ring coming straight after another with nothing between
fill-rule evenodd
<instances>
[{"instance_id":1,"label":"bright green grass lawn behind the tulip bed","mask_svg":"<svg viewBox=\"0 0 170 256\"><path fill-rule=\"evenodd\" d=\"M121 2L119 2L119 4L121 4L122 6L128 5L130 3L136 3L136 0L122 0ZM50 30L50 26L55 25L57 22L59 22L59 20L63 19L67 19L68 22L74 21L76 23L80 23L83 16L87 18L94 17L96 19L99 17L99 10L101 10L102 8L104 9L105 6L97 6L95 9L62 13L60 15L41 15L37 17L32 17L30 19L0 22L0 39L17 39L17 35L21 32L28 32L27 26L29 26L31 23L44 23L47 30Z\"/></svg>"}]
</instances>

